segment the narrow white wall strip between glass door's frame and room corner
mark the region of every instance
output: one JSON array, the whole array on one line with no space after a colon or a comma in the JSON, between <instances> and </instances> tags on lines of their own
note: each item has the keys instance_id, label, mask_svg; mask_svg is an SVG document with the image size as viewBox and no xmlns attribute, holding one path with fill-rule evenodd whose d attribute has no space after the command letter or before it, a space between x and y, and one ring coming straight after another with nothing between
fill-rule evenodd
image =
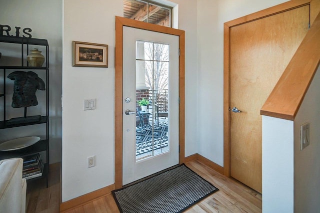
<instances>
[{"instance_id":1,"label":"narrow white wall strip between glass door's frame and room corner","mask_svg":"<svg viewBox=\"0 0 320 213\"><path fill-rule=\"evenodd\" d=\"M197 11L194 0L178 4L178 28L185 31L185 156L197 153Z\"/></svg>"}]
</instances>

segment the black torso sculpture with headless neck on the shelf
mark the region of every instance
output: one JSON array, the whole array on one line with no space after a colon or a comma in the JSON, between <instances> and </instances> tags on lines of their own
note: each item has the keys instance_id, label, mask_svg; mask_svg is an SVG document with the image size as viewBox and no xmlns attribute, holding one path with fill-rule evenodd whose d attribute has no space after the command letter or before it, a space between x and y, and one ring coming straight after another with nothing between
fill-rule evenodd
<instances>
[{"instance_id":1,"label":"black torso sculpture with headless neck on the shelf","mask_svg":"<svg viewBox=\"0 0 320 213\"><path fill-rule=\"evenodd\" d=\"M32 71L14 71L7 76L14 80L12 104L13 108L38 105L36 90L45 90L44 81Z\"/></svg>"}]
</instances>

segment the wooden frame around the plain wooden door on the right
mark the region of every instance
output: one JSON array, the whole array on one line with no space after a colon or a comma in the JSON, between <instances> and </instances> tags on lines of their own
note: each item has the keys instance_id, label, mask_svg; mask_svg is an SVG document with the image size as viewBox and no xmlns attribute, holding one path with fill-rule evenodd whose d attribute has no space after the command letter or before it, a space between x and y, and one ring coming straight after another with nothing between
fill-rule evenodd
<instances>
[{"instance_id":1,"label":"wooden frame around the plain wooden door on the right","mask_svg":"<svg viewBox=\"0 0 320 213\"><path fill-rule=\"evenodd\" d=\"M291 0L225 22L223 25L223 174L227 177L230 177L230 28L308 4L310 4L310 22L312 22L316 15L314 10L319 7L318 1Z\"/></svg>"}]
</instances>

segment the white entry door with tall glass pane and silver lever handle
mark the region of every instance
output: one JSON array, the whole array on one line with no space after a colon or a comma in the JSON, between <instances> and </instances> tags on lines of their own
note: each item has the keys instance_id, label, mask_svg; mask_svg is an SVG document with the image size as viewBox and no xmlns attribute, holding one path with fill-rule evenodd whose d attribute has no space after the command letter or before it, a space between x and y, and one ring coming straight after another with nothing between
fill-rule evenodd
<instances>
[{"instance_id":1,"label":"white entry door with tall glass pane and silver lever handle","mask_svg":"<svg viewBox=\"0 0 320 213\"><path fill-rule=\"evenodd\" d=\"M179 162L178 45L175 35L123 27L123 185Z\"/></svg>"}]
</instances>

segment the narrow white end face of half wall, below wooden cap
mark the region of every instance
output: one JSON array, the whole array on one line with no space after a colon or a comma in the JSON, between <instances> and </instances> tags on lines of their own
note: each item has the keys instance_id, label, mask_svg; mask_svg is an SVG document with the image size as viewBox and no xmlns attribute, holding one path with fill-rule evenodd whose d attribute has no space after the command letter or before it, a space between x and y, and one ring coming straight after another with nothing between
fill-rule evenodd
<instances>
[{"instance_id":1,"label":"narrow white end face of half wall, below wooden cap","mask_svg":"<svg viewBox=\"0 0 320 213\"><path fill-rule=\"evenodd\" d=\"M293 212L293 121L262 116L262 211Z\"/></svg>"}]
</instances>

